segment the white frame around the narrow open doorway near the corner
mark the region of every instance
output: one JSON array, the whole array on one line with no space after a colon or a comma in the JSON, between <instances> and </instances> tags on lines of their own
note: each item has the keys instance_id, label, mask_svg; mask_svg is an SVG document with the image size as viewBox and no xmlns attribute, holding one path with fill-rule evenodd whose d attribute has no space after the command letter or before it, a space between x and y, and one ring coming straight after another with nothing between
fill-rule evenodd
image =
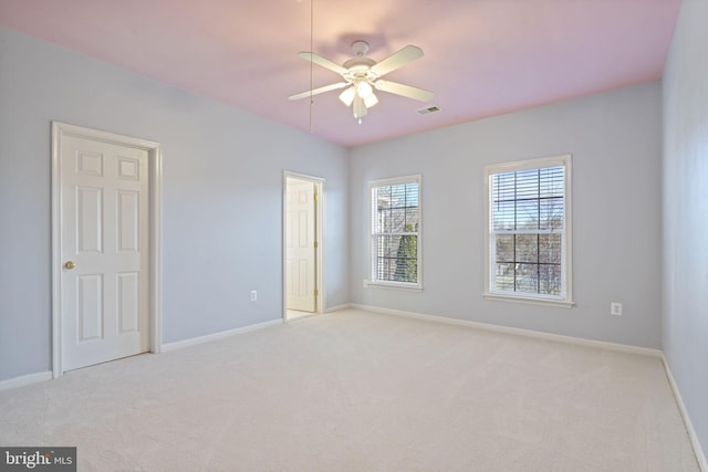
<instances>
[{"instance_id":1,"label":"white frame around the narrow open doorway near the corner","mask_svg":"<svg viewBox=\"0 0 708 472\"><path fill-rule=\"evenodd\" d=\"M290 170L283 171L283 202L282 202L282 293L283 293L283 321L288 321L288 268L285 263L285 254L288 248L285 247L288 242L288 178L304 180L312 182L315 186L315 193L317 195L317 203L315 206L315 241L317 241L317 248L315 249L315 287L317 289L317 296L315 297L314 304L314 313L324 313L324 297L326 291L324 290L324 206L325 206L325 195L324 195L324 179L321 177L309 176L305 174L293 172Z\"/></svg>"}]
</instances>

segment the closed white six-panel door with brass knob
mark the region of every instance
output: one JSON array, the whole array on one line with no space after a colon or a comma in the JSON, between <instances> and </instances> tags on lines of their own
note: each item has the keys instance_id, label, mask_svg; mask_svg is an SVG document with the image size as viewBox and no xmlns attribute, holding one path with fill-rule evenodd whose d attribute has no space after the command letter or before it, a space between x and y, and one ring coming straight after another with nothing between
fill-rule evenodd
<instances>
[{"instance_id":1,"label":"closed white six-panel door with brass knob","mask_svg":"<svg viewBox=\"0 0 708 472\"><path fill-rule=\"evenodd\" d=\"M148 155L61 141L62 370L149 350Z\"/></svg>"}]
</instances>

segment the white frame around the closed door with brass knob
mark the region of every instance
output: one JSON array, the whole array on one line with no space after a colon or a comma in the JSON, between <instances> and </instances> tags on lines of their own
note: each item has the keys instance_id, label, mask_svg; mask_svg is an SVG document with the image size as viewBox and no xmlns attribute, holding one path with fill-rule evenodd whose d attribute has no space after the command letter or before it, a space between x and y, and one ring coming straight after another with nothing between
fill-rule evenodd
<instances>
[{"instance_id":1,"label":"white frame around the closed door with brass knob","mask_svg":"<svg viewBox=\"0 0 708 472\"><path fill-rule=\"evenodd\" d=\"M163 153L162 144L62 122L52 122L52 377L64 374L62 363L62 201L61 165L62 138L72 136L100 140L118 146L128 146L147 151L148 156L148 231L149 231L149 349L158 354L162 349L163 285L162 285L162 225L163 225Z\"/></svg>"}]
</instances>

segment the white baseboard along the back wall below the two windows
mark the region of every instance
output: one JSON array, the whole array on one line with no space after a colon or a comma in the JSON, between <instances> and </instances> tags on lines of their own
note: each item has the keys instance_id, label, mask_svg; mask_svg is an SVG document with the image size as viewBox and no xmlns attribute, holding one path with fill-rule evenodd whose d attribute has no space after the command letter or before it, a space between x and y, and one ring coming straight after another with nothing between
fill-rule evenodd
<instances>
[{"instance_id":1,"label":"white baseboard along the back wall below the two windows","mask_svg":"<svg viewBox=\"0 0 708 472\"><path fill-rule=\"evenodd\" d=\"M483 329L483 331L489 331L494 333L504 333L504 334L512 334L517 336L534 337L538 339L555 340L559 343L596 347L601 349L608 349L608 350L615 350L621 353L642 354L645 356L662 357L662 352L659 349L652 349L648 347L629 346L626 344L585 339L582 337L564 336L560 334L543 333L543 332L538 332L532 329L512 328L509 326L492 325L490 323L469 322L466 319L448 318L445 316L437 316L437 315L426 315L423 313L405 312L400 310L381 308L377 306L369 306L369 305L352 304L351 307L357 308L357 310L364 310L366 312L381 313L384 315L406 316L409 318L425 319L428 322L445 323L445 324L457 325L457 326L467 326L471 328Z\"/></svg>"}]
</instances>

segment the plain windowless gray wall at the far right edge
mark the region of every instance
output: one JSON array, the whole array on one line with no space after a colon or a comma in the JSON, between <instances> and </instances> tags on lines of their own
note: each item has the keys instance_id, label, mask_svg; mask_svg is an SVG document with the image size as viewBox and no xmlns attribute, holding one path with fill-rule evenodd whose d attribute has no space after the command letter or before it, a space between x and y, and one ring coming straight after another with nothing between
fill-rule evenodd
<instances>
[{"instance_id":1,"label":"plain windowless gray wall at the far right edge","mask_svg":"<svg viewBox=\"0 0 708 472\"><path fill-rule=\"evenodd\" d=\"M663 346L708 451L708 1L684 0L664 75Z\"/></svg>"}]
</instances>

